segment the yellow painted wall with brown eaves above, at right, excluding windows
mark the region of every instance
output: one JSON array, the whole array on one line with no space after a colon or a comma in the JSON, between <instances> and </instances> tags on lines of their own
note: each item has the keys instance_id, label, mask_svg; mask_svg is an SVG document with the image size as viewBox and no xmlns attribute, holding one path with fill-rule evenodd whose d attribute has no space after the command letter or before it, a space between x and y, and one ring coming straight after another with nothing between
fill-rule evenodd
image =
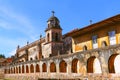
<instances>
[{"instance_id":1,"label":"yellow painted wall with brown eaves above, at right, excluding windows","mask_svg":"<svg viewBox=\"0 0 120 80\"><path fill-rule=\"evenodd\" d=\"M104 28L99 28L94 32L90 31L77 37L73 37L73 52L83 51L83 46L87 46L87 49L93 49L92 36L97 35L98 48L102 47L102 42L105 41L107 46L110 45L108 32L115 31L116 33L116 44L120 44L120 24L105 26Z\"/></svg>"}]
</instances>

